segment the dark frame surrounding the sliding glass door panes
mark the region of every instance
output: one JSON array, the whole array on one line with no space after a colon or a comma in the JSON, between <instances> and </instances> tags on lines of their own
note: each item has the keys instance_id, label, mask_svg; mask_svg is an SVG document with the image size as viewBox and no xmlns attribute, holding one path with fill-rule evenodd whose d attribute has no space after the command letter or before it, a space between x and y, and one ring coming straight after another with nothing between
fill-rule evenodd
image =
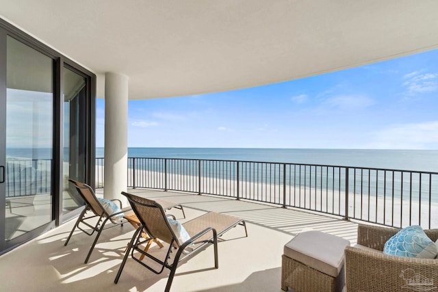
<instances>
[{"instance_id":1,"label":"dark frame surrounding the sliding glass door panes","mask_svg":"<svg viewBox=\"0 0 438 292\"><path fill-rule=\"evenodd\" d=\"M47 55L53 60L53 174L52 174L52 220L44 226L40 226L34 230L31 230L25 235L16 237L8 242L5 242L5 226L4 223L0 224L0 254L12 250L18 245L34 239L38 235L44 233L47 230L60 226L62 222L72 219L81 212L82 208L78 208L66 215L62 215L62 131L64 122L63 111L63 77L62 68L68 68L77 72L79 75L86 78L86 183L94 187L95 176L95 119L96 119L96 75L90 72L90 70L77 64L72 59L62 55L55 51L46 44L36 40L36 38L26 34L18 27L8 23L0 18L0 105L5 103L6 92L6 39L10 36L23 44L35 49L36 51ZM4 47L4 48L3 48ZM4 66L3 66L4 63ZM5 108L5 107L3 107ZM5 119L0 118L1 119ZM5 124L5 123L3 123ZM4 141L3 141L4 140ZM5 137L0 137L0 148L5 148ZM0 155L5 156L0 150ZM4 158L3 158L4 159ZM0 217L5 217L5 197L0 196Z\"/></svg>"}]
</instances>

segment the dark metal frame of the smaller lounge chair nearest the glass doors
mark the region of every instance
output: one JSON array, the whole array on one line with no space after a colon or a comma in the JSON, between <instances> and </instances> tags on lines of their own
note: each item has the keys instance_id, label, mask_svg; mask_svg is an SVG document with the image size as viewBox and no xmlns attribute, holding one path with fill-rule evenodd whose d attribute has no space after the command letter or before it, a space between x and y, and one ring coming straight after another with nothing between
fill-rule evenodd
<instances>
[{"instance_id":1,"label":"dark metal frame of the smaller lounge chair nearest the glass doors","mask_svg":"<svg viewBox=\"0 0 438 292\"><path fill-rule=\"evenodd\" d=\"M66 246L68 241L70 241L70 238L72 237L76 228L78 228L83 233L86 233L86 235L89 235L89 236L92 236L94 234L94 232L96 232L97 235L94 238L94 241L90 247L90 250L88 251L87 257L86 257L85 262L84 262L84 263L88 263L90 256L92 254L92 251L94 250L94 247L96 246L96 243L97 243L99 237L101 236L102 231L104 229L111 228L111 227L118 226L118 225L123 226L123 224L127 223L127 220L125 220L125 219L121 220L120 222L116 222L113 219L114 219L114 216L119 215L120 213L123 213L126 211L130 211L131 208L122 209L122 202L118 199L114 199L112 201L118 202L118 205L119 205L120 209L122 209L122 211L109 214L109 213L107 213L107 211L105 211L105 209L103 208L103 206L99 202L99 200L97 200L96 194L94 194L92 187L90 187L89 185L87 185L85 183L79 183L78 181L75 181L73 179L68 179L68 181L70 181L70 183L73 183L73 185L75 185L79 195L83 198L83 201L85 202L86 205L85 205L85 208L82 210L81 214L79 215L79 217L77 217L77 221L75 223L75 226L73 226L73 229L70 231L70 235L68 235L67 240L64 243L64 246ZM83 190L89 191L90 196L88 196L88 197L85 196L83 194ZM92 200L92 202L90 202L90 200ZM88 211L91 211L94 215L86 216L86 213L88 213ZM99 219L96 222L96 225L92 225L92 224L89 224L87 222L88 220L91 220L95 217L99 217ZM105 228L105 224L108 221L110 221L113 225ZM91 232L89 232L87 229L81 228L81 226L79 226L79 224L84 224L85 226L88 226L88 228L91 228Z\"/></svg>"}]
</instances>

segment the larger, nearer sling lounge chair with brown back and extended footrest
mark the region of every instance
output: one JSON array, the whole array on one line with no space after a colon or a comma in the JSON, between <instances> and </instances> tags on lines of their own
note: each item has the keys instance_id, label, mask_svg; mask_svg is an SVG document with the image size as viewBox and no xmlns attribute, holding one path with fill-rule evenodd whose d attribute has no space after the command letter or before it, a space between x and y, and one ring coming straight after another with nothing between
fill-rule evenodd
<instances>
[{"instance_id":1,"label":"larger, nearer sling lounge chair with brown back and extended footrest","mask_svg":"<svg viewBox=\"0 0 438 292\"><path fill-rule=\"evenodd\" d=\"M165 291L168 292L170 291L170 286L172 285L177 265L179 261L183 260L183 258L201 250L201 247L208 243L213 243L214 267L217 269L218 237L237 225L244 226L245 235L246 237L248 236L246 224L242 219L220 213L209 212L188 222L179 224L176 220L172 220L166 216L164 208L158 202L126 192L122 192L122 194L128 198L133 212L136 213L141 225L136 230L136 233L134 233L131 242L129 243L128 250L114 280L114 283L116 284L122 274L123 267L125 267L129 252L131 252L131 257L135 261L153 271L155 274L161 274L162 271L164 271L164 268L170 269L170 275L165 289ZM144 237L141 236L143 230L149 235L149 239L144 239ZM161 239L169 245L166 255L162 256L162 258L153 256L153 254L145 252L140 248L140 245L153 239ZM174 254L175 250L176 254ZM145 263L146 261L137 258L138 254L134 254L134 252L138 252L140 256L146 256L146 261L151 259L155 262L155 267L152 267ZM171 259L172 257L173 260ZM172 263L170 263L170 261L172 261ZM161 265L161 267L157 268L157 264Z\"/></svg>"}]
</instances>

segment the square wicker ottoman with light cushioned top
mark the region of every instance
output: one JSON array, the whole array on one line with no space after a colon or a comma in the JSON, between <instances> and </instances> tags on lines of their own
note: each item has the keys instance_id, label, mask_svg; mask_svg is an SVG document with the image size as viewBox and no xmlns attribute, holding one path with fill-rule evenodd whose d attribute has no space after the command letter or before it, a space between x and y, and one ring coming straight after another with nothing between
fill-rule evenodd
<instances>
[{"instance_id":1,"label":"square wicker ottoman with light cushioned top","mask_svg":"<svg viewBox=\"0 0 438 292\"><path fill-rule=\"evenodd\" d=\"M281 289L295 292L342 291L344 249L350 241L311 230L289 241L282 256Z\"/></svg>"}]
</instances>

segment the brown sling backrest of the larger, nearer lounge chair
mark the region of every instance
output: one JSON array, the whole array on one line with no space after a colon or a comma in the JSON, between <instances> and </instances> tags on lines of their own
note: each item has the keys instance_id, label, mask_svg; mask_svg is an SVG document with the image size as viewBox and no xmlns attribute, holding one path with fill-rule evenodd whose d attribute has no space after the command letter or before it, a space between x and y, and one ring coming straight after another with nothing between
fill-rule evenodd
<instances>
[{"instance_id":1,"label":"brown sling backrest of the larger, nearer lounge chair","mask_svg":"<svg viewBox=\"0 0 438 292\"><path fill-rule=\"evenodd\" d=\"M160 204L154 200L129 194L125 191L122 191L122 194L128 198L132 210L151 237L161 239L167 243L175 241L178 244L175 233L170 228L166 213L164 213L164 209Z\"/></svg>"}]
</instances>

